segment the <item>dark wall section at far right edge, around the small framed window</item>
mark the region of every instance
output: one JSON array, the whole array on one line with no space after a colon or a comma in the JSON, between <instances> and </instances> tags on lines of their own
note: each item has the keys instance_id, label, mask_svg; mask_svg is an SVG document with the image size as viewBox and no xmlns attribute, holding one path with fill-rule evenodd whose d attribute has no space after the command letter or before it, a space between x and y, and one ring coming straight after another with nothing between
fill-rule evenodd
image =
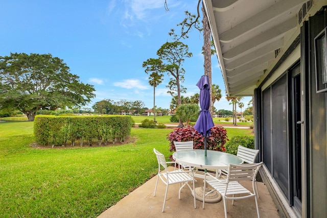
<instances>
[{"instance_id":1,"label":"dark wall section at far right edge, around the small framed window","mask_svg":"<svg viewBox=\"0 0 327 218\"><path fill-rule=\"evenodd\" d=\"M311 17L308 22L309 46L314 51L314 37L326 26L327 13L324 11ZM326 158L326 92L316 92L315 56L309 57L309 157L310 196L312 217L327 217L327 158Z\"/></svg>"}]
</instances>

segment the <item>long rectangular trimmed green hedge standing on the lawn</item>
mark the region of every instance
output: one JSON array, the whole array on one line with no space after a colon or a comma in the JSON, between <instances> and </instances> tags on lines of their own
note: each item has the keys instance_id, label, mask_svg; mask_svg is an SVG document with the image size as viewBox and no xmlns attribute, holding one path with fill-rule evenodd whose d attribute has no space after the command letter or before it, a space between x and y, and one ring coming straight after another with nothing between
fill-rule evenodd
<instances>
[{"instance_id":1,"label":"long rectangular trimmed green hedge standing on the lawn","mask_svg":"<svg viewBox=\"0 0 327 218\"><path fill-rule=\"evenodd\" d=\"M89 146L96 140L99 146L115 139L124 141L130 135L130 116L54 116L37 115L34 119L35 140L42 145L65 146L76 141Z\"/></svg>"}]
</instances>

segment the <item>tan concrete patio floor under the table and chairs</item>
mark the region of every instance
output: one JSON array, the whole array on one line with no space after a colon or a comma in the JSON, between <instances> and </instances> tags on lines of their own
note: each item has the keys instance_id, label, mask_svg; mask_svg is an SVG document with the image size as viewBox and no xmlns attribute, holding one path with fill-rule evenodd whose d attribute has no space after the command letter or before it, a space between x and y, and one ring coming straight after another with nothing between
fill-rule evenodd
<instances>
[{"instance_id":1,"label":"tan concrete patio floor under the table and chairs","mask_svg":"<svg viewBox=\"0 0 327 218\"><path fill-rule=\"evenodd\" d=\"M173 168L173 167L171 167ZM218 203L205 203L196 200L196 209L193 197L188 187L184 187L178 199L179 184L168 188L165 212L161 212L164 203L166 185L159 179L156 196L153 196L157 176L132 191L117 204L108 208L98 218L107 217L224 217L223 201ZM196 178L195 187L203 185L203 179ZM250 181L241 182L245 187L252 188ZM273 203L268 189L263 182L258 182L260 198L258 199L261 217L280 217ZM228 217L257 217L254 198L236 200L234 205L227 200Z\"/></svg>"}]
</instances>

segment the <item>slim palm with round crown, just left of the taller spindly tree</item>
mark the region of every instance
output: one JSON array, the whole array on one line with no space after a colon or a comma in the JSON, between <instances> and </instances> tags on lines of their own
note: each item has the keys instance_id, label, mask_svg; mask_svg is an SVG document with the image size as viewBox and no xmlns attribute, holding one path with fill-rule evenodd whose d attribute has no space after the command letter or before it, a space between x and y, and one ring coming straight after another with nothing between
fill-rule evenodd
<instances>
[{"instance_id":1,"label":"slim palm with round crown, just left of the taller spindly tree","mask_svg":"<svg viewBox=\"0 0 327 218\"><path fill-rule=\"evenodd\" d=\"M149 75L149 84L153 87L153 120L155 120L155 87L157 87L162 80L164 75L162 74L162 61L160 59L149 58L143 62L143 67L146 67L145 72Z\"/></svg>"}]
</instances>

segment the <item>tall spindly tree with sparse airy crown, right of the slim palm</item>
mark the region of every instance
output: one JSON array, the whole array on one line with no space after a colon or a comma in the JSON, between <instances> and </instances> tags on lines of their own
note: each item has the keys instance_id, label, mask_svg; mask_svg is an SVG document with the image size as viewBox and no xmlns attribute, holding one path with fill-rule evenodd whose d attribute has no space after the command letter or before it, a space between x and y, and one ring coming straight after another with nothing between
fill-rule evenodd
<instances>
[{"instance_id":1,"label":"tall spindly tree with sparse airy crown, right of the slim palm","mask_svg":"<svg viewBox=\"0 0 327 218\"><path fill-rule=\"evenodd\" d=\"M172 96L177 94L177 106L181 105L180 93L183 89L181 83L184 81L185 70L182 63L185 58L192 57L189 52L189 46L180 42L166 42L161 45L157 51L158 58L162 61L162 70L170 76L170 82L167 86ZM177 92L177 93L176 93ZM178 127L183 127L183 122L179 119Z\"/></svg>"}]
</instances>

